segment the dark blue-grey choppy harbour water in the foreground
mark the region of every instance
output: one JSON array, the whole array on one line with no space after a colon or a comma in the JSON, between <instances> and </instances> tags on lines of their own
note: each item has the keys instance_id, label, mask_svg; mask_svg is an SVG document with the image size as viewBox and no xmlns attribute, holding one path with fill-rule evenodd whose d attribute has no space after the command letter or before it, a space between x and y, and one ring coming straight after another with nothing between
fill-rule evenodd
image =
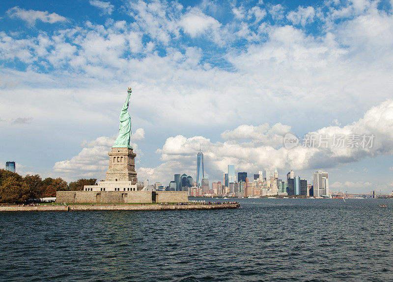
<instances>
[{"instance_id":1,"label":"dark blue-grey choppy harbour water in the foreground","mask_svg":"<svg viewBox=\"0 0 393 282\"><path fill-rule=\"evenodd\" d=\"M240 203L1 213L0 281L393 281L393 200Z\"/></svg>"}]
</instances>

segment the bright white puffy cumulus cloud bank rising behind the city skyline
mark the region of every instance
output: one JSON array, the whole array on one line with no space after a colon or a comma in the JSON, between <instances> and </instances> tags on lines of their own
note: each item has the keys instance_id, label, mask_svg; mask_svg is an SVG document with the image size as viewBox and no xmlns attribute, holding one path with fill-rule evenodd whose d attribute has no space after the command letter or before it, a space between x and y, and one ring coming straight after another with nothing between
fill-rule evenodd
<instances>
[{"instance_id":1,"label":"bright white puffy cumulus cloud bank rising behind the city skyline","mask_svg":"<svg viewBox=\"0 0 393 282\"><path fill-rule=\"evenodd\" d=\"M157 181L168 182L174 173L180 171L195 175L199 146L204 154L205 171L211 179L222 179L221 176L230 163L236 164L238 171L251 172L275 167L304 170L332 168L366 157L393 155L393 100L372 107L363 118L351 124L342 127L328 126L309 132L309 135L316 137L313 147L301 145L292 149L282 147L283 135L289 129L290 126L281 124L241 125L221 134L222 138L226 139L225 142L211 142L203 136L169 137L162 149L156 151L161 154L163 163L156 168L143 168L141 174L148 171L149 179L154 176ZM360 138L362 134L373 135L373 144L363 148ZM326 135L330 137L330 143L327 146L319 146L320 136ZM332 144L334 135L358 135L359 146L352 148L345 144L342 148L335 147ZM277 146L280 148L276 148Z\"/></svg>"}]
</instances>

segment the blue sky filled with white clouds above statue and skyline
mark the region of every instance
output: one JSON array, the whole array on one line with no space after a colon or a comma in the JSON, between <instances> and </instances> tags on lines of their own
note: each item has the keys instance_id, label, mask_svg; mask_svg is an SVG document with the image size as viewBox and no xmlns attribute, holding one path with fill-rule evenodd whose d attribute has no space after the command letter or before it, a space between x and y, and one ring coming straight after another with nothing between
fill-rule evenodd
<instances>
[{"instance_id":1,"label":"blue sky filled with white clouds above statue and skyline","mask_svg":"<svg viewBox=\"0 0 393 282\"><path fill-rule=\"evenodd\" d=\"M326 169L393 189L392 1L2 1L0 161L103 179L127 87L139 180ZM374 134L372 148L283 135Z\"/></svg>"}]
</instances>

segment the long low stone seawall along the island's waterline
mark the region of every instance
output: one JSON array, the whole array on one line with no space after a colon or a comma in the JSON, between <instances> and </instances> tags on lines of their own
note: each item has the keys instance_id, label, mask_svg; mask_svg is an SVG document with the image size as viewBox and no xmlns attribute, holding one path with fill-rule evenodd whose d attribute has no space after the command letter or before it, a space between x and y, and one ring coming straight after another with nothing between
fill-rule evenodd
<instances>
[{"instance_id":1,"label":"long low stone seawall along the island's waterline","mask_svg":"<svg viewBox=\"0 0 393 282\"><path fill-rule=\"evenodd\" d=\"M240 204L224 205L70 205L70 206L3 206L0 212L72 212L72 211L168 211L236 209Z\"/></svg>"}]
</instances>

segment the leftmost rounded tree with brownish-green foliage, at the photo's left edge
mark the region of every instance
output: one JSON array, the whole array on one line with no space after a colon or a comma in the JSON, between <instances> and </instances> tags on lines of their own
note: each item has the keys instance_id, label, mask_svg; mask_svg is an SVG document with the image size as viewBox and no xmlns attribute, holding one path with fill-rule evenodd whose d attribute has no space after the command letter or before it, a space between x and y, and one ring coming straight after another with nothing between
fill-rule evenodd
<instances>
[{"instance_id":1,"label":"leftmost rounded tree with brownish-green foliage, at the photo's left edge","mask_svg":"<svg viewBox=\"0 0 393 282\"><path fill-rule=\"evenodd\" d=\"M29 199L28 185L20 175L10 176L2 182L0 187L0 201L3 203L22 203Z\"/></svg>"}]
</instances>

